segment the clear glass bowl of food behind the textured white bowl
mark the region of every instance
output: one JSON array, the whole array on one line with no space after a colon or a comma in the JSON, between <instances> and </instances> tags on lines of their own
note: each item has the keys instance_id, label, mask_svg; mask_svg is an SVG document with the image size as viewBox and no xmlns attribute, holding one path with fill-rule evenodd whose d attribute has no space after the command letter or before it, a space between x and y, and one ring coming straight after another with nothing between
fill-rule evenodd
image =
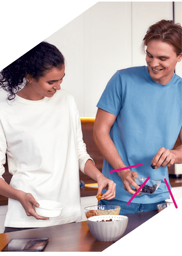
<instances>
[{"instance_id":1,"label":"clear glass bowl of food behind the textured white bowl","mask_svg":"<svg viewBox=\"0 0 182 256\"><path fill-rule=\"evenodd\" d=\"M93 205L84 208L87 218L99 215L119 215L121 207L118 205Z\"/></svg>"}]
</instances>

